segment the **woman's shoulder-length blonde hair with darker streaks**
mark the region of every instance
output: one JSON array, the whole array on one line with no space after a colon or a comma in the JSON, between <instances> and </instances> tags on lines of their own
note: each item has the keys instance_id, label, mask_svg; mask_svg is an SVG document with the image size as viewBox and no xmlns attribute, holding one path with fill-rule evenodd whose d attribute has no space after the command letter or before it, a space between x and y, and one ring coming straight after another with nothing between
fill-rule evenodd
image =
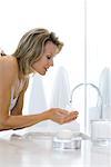
<instances>
[{"instance_id":1,"label":"woman's shoulder-length blonde hair with darker streaks","mask_svg":"<svg viewBox=\"0 0 111 167\"><path fill-rule=\"evenodd\" d=\"M58 52L63 46L53 32L41 28L30 30L21 38L12 56L17 58L23 75L29 75L31 65L41 58L47 41L52 41L58 47Z\"/></svg>"}]
</instances>

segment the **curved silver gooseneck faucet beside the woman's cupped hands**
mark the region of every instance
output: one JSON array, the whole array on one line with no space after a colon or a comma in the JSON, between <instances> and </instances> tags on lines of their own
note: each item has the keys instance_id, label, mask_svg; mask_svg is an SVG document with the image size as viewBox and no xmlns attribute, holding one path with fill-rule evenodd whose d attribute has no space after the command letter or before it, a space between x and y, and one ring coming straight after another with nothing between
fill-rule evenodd
<instances>
[{"instance_id":1,"label":"curved silver gooseneck faucet beside the woman's cupped hands","mask_svg":"<svg viewBox=\"0 0 111 167\"><path fill-rule=\"evenodd\" d=\"M79 84L79 85L77 85L73 89L72 89L72 91L71 91L71 95L70 95L70 104L72 104L72 97L73 97L73 92L74 92L74 90L77 90L79 87L81 87L81 86L91 86L91 87L93 87L97 91L98 91L98 95L99 95L99 98L100 98L100 101L101 101L101 104L100 104L100 119L102 119L103 118L103 99L102 99L102 95L101 95L101 91L100 91L100 89L95 86L95 85L93 85L93 84Z\"/></svg>"}]
</instances>

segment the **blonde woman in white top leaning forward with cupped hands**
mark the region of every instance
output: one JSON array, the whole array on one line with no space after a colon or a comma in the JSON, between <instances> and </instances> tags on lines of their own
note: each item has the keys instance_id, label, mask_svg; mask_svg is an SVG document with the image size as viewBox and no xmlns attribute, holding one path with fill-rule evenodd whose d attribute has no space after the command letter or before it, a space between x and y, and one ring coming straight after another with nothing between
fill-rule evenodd
<instances>
[{"instance_id":1,"label":"blonde woman in white top leaning forward with cupped hands","mask_svg":"<svg viewBox=\"0 0 111 167\"><path fill-rule=\"evenodd\" d=\"M74 120L78 111L51 108L37 115L22 115L29 75L46 75L53 66L62 42L47 29L32 29L20 40L11 56L0 57L0 130L20 129L51 119L58 124Z\"/></svg>"}]
</instances>

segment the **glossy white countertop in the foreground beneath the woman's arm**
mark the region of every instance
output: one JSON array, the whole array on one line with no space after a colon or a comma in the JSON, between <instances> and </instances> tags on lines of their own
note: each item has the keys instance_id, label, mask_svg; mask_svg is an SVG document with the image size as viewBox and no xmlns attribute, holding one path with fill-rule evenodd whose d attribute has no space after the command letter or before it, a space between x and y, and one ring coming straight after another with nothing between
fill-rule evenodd
<instances>
[{"instance_id":1,"label":"glossy white countertop in the foreground beneath the woman's arm","mask_svg":"<svg viewBox=\"0 0 111 167\"><path fill-rule=\"evenodd\" d=\"M0 167L111 167L111 149L82 141L81 149L56 150L52 140L0 136ZM2 132L1 132L2 134Z\"/></svg>"}]
</instances>

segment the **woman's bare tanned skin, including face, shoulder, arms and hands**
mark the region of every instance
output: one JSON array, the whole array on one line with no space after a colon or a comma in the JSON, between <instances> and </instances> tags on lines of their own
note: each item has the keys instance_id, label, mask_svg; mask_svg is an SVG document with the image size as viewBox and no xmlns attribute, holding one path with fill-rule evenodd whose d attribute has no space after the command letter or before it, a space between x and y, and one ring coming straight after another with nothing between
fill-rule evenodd
<instances>
[{"instance_id":1,"label":"woman's bare tanned skin, including face, shoulder, arms and hands","mask_svg":"<svg viewBox=\"0 0 111 167\"><path fill-rule=\"evenodd\" d=\"M53 57L57 55L57 46L48 41L42 57L32 65L32 72L34 70L44 76L48 69L53 66ZM51 108L37 115L22 115L24 92L29 85L28 79L19 95L17 105L9 114L11 88L16 87L17 79L24 79L19 71L17 59L12 56L0 57L0 130L21 129L47 119L58 124L77 119L78 111L69 112L60 108Z\"/></svg>"}]
</instances>

